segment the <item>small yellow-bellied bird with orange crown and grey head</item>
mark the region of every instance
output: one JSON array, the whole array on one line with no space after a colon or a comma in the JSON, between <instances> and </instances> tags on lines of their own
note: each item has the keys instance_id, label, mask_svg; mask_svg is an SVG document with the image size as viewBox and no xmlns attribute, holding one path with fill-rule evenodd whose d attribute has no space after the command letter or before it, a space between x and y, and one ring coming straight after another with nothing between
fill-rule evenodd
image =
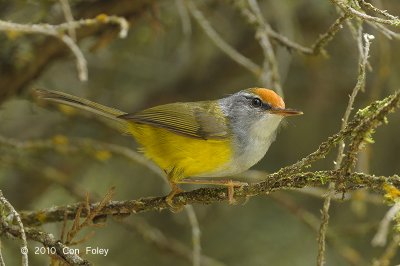
<instances>
[{"instance_id":1,"label":"small yellow-bellied bird with orange crown and grey head","mask_svg":"<svg viewBox=\"0 0 400 266\"><path fill-rule=\"evenodd\" d=\"M233 187L245 182L226 179L259 162L275 140L285 117L301 111L285 107L271 89L253 87L218 100L176 102L126 113L60 91L35 89L37 98L89 111L131 135L144 156L166 174L170 193L166 202L183 190L179 184L214 184ZM225 178L225 179L224 179Z\"/></svg>"}]
</instances>

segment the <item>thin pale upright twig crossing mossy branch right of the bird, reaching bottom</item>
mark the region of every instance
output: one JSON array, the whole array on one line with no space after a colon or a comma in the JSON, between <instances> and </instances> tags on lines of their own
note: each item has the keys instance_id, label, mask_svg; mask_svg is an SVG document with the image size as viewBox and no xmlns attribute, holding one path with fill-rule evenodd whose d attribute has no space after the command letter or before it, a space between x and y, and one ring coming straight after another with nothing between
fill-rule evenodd
<instances>
[{"instance_id":1,"label":"thin pale upright twig crossing mossy branch right of the bird, reaching bottom","mask_svg":"<svg viewBox=\"0 0 400 266\"><path fill-rule=\"evenodd\" d=\"M350 117L350 113L353 110L354 100L355 100L358 92L360 90L363 90L365 87L365 67L367 65L367 60L368 60L368 56L369 56L370 41L373 39L373 36L369 35L369 34L362 35L362 32L361 32L362 27L360 26L359 29L360 29L360 31L359 31L359 35L358 35L358 47L359 47L360 56L359 56L358 79L357 79L357 83L350 95L346 111L343 115L342 125L340 128L341 131L345 130L345 128L346 128L346 125L347 125L349 117ZM363 38L365 41L365 46L363 45ZM339 170L342 167L344 147L345 147L345 143L343 140L341 140L339 142L339 149L338 149L338 154L337 154L337 158L336 158L335 170ZM329 208L330 208L330 204L331 204L331 198L334 193L335 193L335 184L330 183L328 193L327 193L327 196L326 196L324 204L323 204L322 214L321 214L321 225L320 225L319 234L318 234L317 265L325 264L325 235L326 235L326 230L328 228L328 222L329 222Z\"/></svg>"}]
</instances>

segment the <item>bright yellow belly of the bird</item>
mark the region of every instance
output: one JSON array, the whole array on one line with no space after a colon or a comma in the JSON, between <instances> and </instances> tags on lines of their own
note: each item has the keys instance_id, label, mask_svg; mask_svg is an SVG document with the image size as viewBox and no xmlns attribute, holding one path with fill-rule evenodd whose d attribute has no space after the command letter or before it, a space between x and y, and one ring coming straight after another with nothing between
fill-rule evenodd
<instances>
[{"instance_id":1,"label":"bright yellow belly of the bird","mask_svg":"<svg viewBox=\"0 0 400 266\"><path fill-rule=\"evenodd\" d=\"M219 171L231 157L228 139L204 140L179 135L164 128L131 124L130 132L145 156L163 169L172 181Z\"/></svg>"}]
</instances>

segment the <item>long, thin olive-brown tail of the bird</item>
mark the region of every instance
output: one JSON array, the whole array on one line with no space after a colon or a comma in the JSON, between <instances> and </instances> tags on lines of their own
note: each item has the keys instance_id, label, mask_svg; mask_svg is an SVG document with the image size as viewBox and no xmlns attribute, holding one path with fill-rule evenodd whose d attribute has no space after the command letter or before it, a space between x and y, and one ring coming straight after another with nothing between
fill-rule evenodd
<instances>
[{"instance_id":1,"label":"long, thin olive-brown tail of the bird","mask_svg":"<svg viewBox=\"0 0 400 266\"><path fill-rule=\"evenodd\" d=\"M118 130L124 133L129 132L129 122L127 122L124 119L118 118L119 116L125 115L127 113L122 112L118 109L107 107L99 103L95 103L87 99L59 91L35 89L34 93L38 99L65 104L71 107L88 111L96 115L96 117L106 118L105 121L108 124L112 125L113 127L116 127Z\"/></svg>"}]
</instances>

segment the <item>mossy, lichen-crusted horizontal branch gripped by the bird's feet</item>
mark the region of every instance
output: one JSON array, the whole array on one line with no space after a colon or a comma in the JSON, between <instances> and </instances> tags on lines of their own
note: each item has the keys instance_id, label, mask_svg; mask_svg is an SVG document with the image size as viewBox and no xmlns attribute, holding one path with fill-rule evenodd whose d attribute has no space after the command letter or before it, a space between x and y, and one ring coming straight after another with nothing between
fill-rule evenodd
<instances>
[{"instance_id":1,"label":"mossy, lichen-crusted horizontal branch gripped by the bird's feet","mask_svg":"<svg viewBox=\"0 0 400 266\"><path fill-rule=\"evenodd\" d=\"M235 198L249 198L258 195L265 195L278 190L287 190L293 188L303 188L306 186L320 186L327 182L337 181L338 171L317 171L298 173L282 179L276 179L275 174L267 176L267 180L258 184L246 187L235 188ZM400 188L400 177L397 175L373 176L363 173L352 173L345 184L348 190L359 188L368 188L371 190L383 191L384 184L391 184ZM148 211L161 211L169 209L170 206L165 201L166 197L141 198L137 200L111 201L98 213L98 216L106 215L128 215ZM189 192L177 194L173 198L173 204L176 207L188 204L212 204L217 202L227 202L228 195L224 188L201 188ZM99 203L90 204L91 211L98 207ZM64 221L65 217L69 220L75 219L75 215L82 203L75 203L66 206L52 207L39 211L21 211L22 222L27 226L38 226L46 223ZM83 209L81 217L88 215L87 210Z\"/></svg>"}]
</instances>

